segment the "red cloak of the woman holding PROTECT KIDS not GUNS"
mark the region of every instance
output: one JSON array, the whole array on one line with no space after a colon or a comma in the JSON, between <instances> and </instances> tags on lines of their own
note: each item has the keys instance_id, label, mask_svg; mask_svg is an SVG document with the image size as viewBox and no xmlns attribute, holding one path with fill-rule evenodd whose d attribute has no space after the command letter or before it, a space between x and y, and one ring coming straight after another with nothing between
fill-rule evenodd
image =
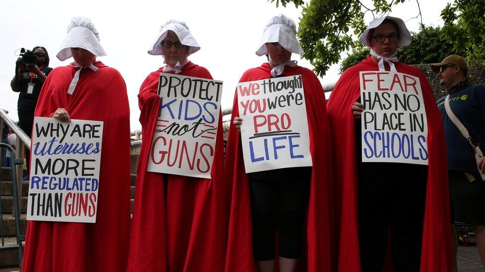
<instances>
[{"instance_id":1,"label":"red cloak of the woman holding PROTECT KIDS not GUNS","mask_svg":"<svg viewBox=\"0 0 485 272\"><path fill-rule=\"evenodd\" d=\"M138 161L128 271L218 272L224 270L229 191L223 180L222 114L212 163L212 179L148 172L162 68L143 82L138 95L143 143ZM212 79L209 71L188 62L179 75Z\"/></svg>"}]
</instances>

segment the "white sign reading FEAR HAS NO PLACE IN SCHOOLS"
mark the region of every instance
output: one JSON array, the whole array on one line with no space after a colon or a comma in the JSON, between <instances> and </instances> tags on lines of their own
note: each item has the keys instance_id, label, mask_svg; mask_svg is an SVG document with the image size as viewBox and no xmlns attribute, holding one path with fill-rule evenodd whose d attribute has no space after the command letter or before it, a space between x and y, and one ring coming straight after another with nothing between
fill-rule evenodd
<instances>
[{"instance_id":1,"label":"white sign reading FEAR HAS NO PLACE IN SCHOOLS","mask_svg":"<svg viewBox=\"0 0 485 272\"><path fill-rule=\"evenodd\" d=\"M362 162L428 164L428 125L419 78L362 71Z\"/></svg>"}]
</instances>

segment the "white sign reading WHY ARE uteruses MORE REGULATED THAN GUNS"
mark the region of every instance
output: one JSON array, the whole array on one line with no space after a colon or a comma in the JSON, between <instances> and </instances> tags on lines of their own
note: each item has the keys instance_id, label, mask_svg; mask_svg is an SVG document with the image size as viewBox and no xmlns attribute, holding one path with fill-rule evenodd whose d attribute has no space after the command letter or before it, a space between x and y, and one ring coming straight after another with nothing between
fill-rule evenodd
<instances>
[{"instance_id":1,"label":"white sign reading WHY ARE uteruses MORE REGULATED THAN GUNS","mask_svg":"<svg viewBox=\"0 0 485 272\"><path fill-rule=\"evenodd\" d=\"M102 140L100 121L34 118L27 220L96 222Z\"/></svg>"}]
</instances>

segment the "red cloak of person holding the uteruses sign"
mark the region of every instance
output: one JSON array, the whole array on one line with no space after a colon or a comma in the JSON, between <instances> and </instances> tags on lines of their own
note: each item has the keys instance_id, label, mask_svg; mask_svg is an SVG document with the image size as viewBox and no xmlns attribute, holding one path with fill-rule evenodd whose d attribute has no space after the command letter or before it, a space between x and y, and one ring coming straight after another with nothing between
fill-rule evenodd
<instances>
[{"instance_id":1,"label":"red cloak of person holding the uteruses sign","mask_svg":"<svg viewBox=\"0 0 485 272\"><path fill-rule=\"evenodd\" d=\"M22 271L125 271L130 228L130 112L125 81L100 61L99 69L52 70L35 116L65 108L71 118L103 121L96 223L28 221ZM32 165L32 164L31 164Z\"/></svg>"}]
</instances>

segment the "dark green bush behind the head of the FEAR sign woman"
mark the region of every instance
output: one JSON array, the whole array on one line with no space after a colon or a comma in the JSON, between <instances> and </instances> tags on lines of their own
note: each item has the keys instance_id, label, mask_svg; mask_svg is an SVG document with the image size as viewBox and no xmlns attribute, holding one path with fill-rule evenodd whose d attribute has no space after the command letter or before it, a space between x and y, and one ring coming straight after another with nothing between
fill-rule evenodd
<instances>
[{"instance_id":1,"label":"dark green bush behind the head of the FEAR sign woman","mask_svg":"<svg viewBox=\"0 0 485 272\"><path fill-rule=\"evenodd\" d=\"M466 50L455 48L455 43L447 40L444 31L440 27L423 26L418 33L411 32L412 43L405 47L400 47L398 58L407 64L423 64L440 62L450 54L465 56ZM348 67L359 63L369 54L367 47L360 47L354 50L342 60L340 72Z\"/></svg>"}]
</instances>

